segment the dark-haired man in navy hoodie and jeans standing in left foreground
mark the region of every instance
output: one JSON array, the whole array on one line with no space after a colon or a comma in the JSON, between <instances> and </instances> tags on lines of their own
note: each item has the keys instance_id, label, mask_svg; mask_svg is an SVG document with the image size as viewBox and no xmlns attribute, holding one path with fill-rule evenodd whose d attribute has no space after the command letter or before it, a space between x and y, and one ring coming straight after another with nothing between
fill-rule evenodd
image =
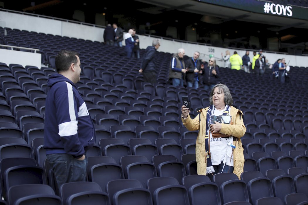
<instances>
[{"instance_id":1,"label":"dark-haired man in navy hoodie and jeans standing in left foreground","mask_svg":"<svg viewBox=\"0 0 308 205\"><path fill-rule=\"evenodd\" d=\"M61 50L55 64L58 73L47 83L44 148L60 187L85 181L86 152L95 142L95 127L75 85L81 72L78 53Z\"/></svg>"}]
</instances>

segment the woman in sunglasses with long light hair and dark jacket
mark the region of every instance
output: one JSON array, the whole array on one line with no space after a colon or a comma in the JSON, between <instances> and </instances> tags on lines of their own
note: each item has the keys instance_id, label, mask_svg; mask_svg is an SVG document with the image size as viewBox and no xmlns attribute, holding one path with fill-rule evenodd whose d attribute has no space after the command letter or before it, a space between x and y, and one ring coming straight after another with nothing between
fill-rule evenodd
<instances>
[{"instance_id":1,"label":"woman in sunglasses with long light hair and dark jacket","mask_svg":"<svg viewBox=\"0 0 308 205\"><path fill-rule=\"evenodd\" d=\"M204 89L211 90L217 84L217 78L219 78L219 68L214 57L211 57L208 65L202 69L202 75Z\"/></svg>"}]
</instances>

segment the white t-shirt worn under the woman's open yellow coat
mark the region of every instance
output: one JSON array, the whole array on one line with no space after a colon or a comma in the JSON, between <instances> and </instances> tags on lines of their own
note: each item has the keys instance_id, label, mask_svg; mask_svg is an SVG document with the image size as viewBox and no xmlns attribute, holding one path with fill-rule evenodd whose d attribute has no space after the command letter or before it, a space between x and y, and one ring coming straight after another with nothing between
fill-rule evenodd
<instances>
[{"instance_id":1,"label":"white t-shirt worn under the woman's open yellow coat","mask_svg":"<svg viewBox=\"0 0 308 205\"><path fill-rule=\"evenodd\" d=\"M225 109L214 109L213 115L222 115L224 110ZM221 162L224 160L228 146L227 140L228 138L224 137L213 138L212 133L210 132L210 151L213 165L221 164Z\"/></svg>"}]
</instances>

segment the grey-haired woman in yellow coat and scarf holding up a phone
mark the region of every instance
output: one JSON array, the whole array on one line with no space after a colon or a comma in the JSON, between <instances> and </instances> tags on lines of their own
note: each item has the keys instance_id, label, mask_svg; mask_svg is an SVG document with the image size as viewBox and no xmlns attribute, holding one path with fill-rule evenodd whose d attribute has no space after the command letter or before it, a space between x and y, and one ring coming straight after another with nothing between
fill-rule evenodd
<instances>
[{"instance_id":1,"label":"grey-haired woman in yellow coat and scarf holding up a phone","mask_svg":"<svg viewBox=\"0 0 308 205\"><path fill-rule=\"evenodd\" d=\"M188 108L183 105L181 109L184 126L189 131L199 130L196 141L197 172L210 179L216 173L233 172L240 179L244 171L244 149L240 137L246 132L243 113L231 106L233 99L226 85L215 85L209 101L211 106L199 110L194 119L190 118ZM231 115L232 122L210 124L210 116L214 115Z\"/></svg>"}]
</instances>

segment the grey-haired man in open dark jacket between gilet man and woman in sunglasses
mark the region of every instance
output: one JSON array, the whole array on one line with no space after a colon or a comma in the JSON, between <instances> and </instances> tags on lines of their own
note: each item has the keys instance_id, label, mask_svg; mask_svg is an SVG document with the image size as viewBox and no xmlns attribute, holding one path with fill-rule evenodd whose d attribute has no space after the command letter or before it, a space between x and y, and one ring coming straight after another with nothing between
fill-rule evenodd
<instances>
[{"instance_id":1,"label":"grey-haired man in open dark jacket between gilet man and woman in sunglasses","mask_svg":"<svg viewBox=\"0 0 308 205\"><path fill-rule=\"evenodd\" d=\"M202 62L198 60L200 56L199 51L195 51L192 58L189 58L185 61L185 65L187 68L186 71L186 81L187 87L194 87L197 89L199 87L199 75L202 73L201 68L204 68Z\"/></svg>"}]
</instances>

